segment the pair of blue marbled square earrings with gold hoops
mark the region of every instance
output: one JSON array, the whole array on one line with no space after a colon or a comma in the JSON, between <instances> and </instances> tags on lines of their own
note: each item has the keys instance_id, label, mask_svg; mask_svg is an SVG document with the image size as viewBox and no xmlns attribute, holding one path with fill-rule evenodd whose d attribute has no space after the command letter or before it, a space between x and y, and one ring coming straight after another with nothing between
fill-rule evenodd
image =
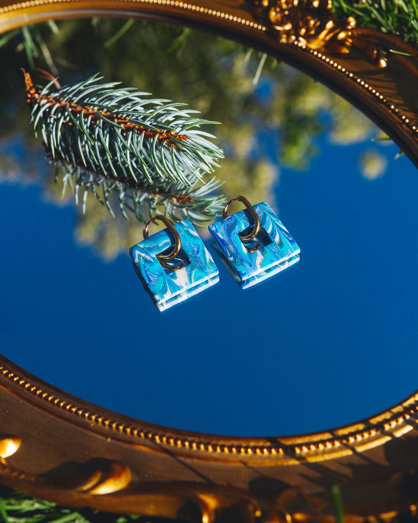
<instances>
[{"instance_id":1,"label":"pair of blue marbled square earrings with gold hoops","mask_svg":"<svg viewBox=\"0 0 418 523\"><path fill-rule=\"evenodd\" d=\"M241 201L246 209L228 216L228 206ZM223 220L209 225L217 256L242 289L274 276L299 261L300 249L268 203L251 206L237 196L222 211ZM148 236L160 220L167 229ZM145 225L144 241L129 249L145 290L165 311L219 281L218 268L189 220L172 225L156 214ZM173 244L174 240L174 244Z\"/></svg>"}]
</instances>

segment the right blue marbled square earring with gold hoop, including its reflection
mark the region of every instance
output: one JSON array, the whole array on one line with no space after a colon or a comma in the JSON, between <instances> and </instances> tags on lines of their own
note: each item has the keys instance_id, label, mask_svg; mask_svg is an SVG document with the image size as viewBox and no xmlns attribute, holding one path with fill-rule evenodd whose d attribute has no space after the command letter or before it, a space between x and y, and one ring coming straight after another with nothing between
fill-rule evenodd
<instances>
[{"instance_id":1,"label":"right blue marbled square earring with gold hoop, including its reflection","mask_svg":"<svg viewBox=\"0 0 418 523\"><path fill-rule=\"evenodd\" d=\"M241 201L247 209L228 216L228 205ZM299 261L299 247L267 202L251 206L237 196L222 211L222 221L209 225L211 245L231 276L247 289Z\"/></svg>"}]
</instances>

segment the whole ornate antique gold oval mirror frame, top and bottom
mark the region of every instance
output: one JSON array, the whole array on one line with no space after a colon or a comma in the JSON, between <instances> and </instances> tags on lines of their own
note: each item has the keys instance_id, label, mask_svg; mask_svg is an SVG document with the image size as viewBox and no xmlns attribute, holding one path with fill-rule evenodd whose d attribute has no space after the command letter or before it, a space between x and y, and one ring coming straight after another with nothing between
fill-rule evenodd
<instances>
[{"instance_id":1,"label":"whole ornate antique gold oval mirror frame, top and bottom","mask_svg":"<svg viewBox=\"0 0 418 523\"><path fill-rule=\"evenodd\" d=\"M49 19L146 17L250 44L344 96L418 166L418 52L397 37L356 28L353 18L336 20L331 0L8 2L0 0L0 33ZM78 372L83 363L74 367ZM295 406L301 416L306 408L308 399ZM349 522L414 515L417 419L418 392L322 433L198 434L107 411L0 356L0 481L64 505L114 513L176 517L194 507L202 523L331 523L331 486L339 484Z\"/></svg>"}]
</instances>

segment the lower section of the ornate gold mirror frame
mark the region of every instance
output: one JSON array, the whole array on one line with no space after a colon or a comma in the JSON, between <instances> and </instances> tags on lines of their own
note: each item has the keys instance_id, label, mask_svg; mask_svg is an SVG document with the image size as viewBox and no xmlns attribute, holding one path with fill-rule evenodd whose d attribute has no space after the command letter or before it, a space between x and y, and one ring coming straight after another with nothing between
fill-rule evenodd
<instances>
[{"instance_id":1,"label":"lower section of the ornate gold mirror frame","mask_svg":"<svg viewBox=\"0 0 418 523\"><path fill-rule=\"evenodd\" d=\"M333 523L339 483L346 521L390 523L418 503L417 420L415 393L326 433L208 437L103 410L2 358L0 430L20 436L0 437L0 481L115 513L178 517L192 506L202 523Z\"/></svg>"}]
</instances>

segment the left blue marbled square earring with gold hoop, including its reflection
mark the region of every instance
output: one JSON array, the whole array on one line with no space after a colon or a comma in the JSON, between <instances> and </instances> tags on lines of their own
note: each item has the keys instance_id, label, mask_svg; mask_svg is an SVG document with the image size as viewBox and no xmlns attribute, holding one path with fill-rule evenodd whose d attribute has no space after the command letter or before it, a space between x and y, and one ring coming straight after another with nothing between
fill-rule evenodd
<instances>
[{"instance_id":1,"label":"left blue marbled square earring with gold hoop, including its reflection","mask_svg":"<svg viewBox=\"0 0 418 523\"><path fill-rule=\"evenodd\" d=\"M162 221L167 229L148 237L148 226L154 220ZM218 268L189 220L173 226L162 214L156 214L145 225L144 241L129 252L145 290L160 311L219 281Z\"/></svg>"}]
</instances>

